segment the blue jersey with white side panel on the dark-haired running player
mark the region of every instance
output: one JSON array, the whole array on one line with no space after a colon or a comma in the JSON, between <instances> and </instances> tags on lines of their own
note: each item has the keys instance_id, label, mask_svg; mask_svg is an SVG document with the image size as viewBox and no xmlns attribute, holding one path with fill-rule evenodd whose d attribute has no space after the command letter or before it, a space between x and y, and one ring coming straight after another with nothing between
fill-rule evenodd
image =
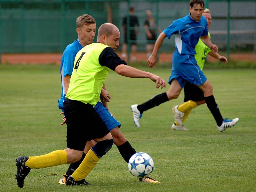
<instances>
[{"instance_id":1,"label":"blue jersey with white side panel on the dark-haired running player","mask_svg":"<svg viewBox=\"0 0 256 192\"><path fill-rule=\"evenodd\" d=\"M190 13L164 29L164 34L170 39L175 34L175 48L180 54L195 55L195 46L200 36L208 35L207 20L204 16L195 21Z\"/></svg>"}]
</instances>

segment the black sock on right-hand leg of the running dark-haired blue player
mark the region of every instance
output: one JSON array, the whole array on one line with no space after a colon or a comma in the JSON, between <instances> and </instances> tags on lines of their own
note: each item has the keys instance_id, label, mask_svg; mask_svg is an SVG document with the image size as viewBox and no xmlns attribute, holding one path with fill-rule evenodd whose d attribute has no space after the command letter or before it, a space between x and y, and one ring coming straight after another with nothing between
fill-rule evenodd
<instances>
[{"instance_id":1,"label":"black sock on right-hand leg of the running dark-haired blue player","mask_svg":"<svg viewBox=\"0 0 256 192\"><path fill-rule=\"evenodd\" d=\"M210 109L218 126L222 124L223 118L220 114L218 104L215 102L213 95L204 98L207 107Z\"/></svg>"}]
</instances>

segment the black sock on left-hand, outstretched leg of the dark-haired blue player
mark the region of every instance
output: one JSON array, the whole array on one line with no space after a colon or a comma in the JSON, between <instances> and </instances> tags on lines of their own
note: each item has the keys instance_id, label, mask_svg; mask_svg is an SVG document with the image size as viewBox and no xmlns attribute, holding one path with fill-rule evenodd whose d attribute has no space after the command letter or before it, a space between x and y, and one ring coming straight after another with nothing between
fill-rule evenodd
<instances>
[{"instance_id":1,"label":"black sock on left-hand, outstretched leg of the dark-haired blue player","mask_svg":"<svg viewBox=\"0 0 256 192\"><path fill-rule=\"evenodd\" d=\"M140 111L140 113L143 113L144 111L147 111L148 109L156 107L166 101L169 101L169 99L167 97L166 92L164 92L152 97L150 100L146 101L145 103L138 105L137 108Z\"/></svg>"}]
</instances>

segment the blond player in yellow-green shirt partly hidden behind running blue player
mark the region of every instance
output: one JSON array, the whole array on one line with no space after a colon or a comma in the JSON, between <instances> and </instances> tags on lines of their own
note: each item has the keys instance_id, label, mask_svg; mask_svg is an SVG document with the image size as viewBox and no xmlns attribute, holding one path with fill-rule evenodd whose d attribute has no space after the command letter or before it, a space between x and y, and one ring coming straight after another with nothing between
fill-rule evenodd
<instances>
[{"instance_id":1,"label":"blond player in yellow-green shirt partly hidden behind running blue player","mask_svg":"<svg viewBox=\"0 0 256 192\"><path fill-rule=\"evenodd\" d=\"M207 27L209 29L212 23L212 16L210 10L205 9L203 16L207 20ZM208 33L208 35L210 36L210 33ZM198 43L196 44L195 50L197 65L201 68L201 70L203 70L204 68L205 58L208 54L220 61L224 61L225 64L228 63L226 57L220 56L217 52L213 52L208 46L206 46L202 42L200 38ZM172 130L188 131L188 129L183 124L184 121L186 120L193 108L196 108L198 105L202 105L204 103L204 92L201 91L201 89L199 89L196 85L187 82L184 86L184 103L181 105L176 105L172 108L175 119L175 123L172 124Z\"/></svg>"}]
</instances>

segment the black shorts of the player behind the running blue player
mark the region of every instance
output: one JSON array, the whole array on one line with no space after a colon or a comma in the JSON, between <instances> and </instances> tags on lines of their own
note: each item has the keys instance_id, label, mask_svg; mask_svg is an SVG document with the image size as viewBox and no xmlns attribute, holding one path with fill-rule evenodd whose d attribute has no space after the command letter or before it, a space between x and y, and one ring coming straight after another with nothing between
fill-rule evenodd
<instances>
[{"instance_id":1,"label":"black shorts of the player behind the running blue player","mask_svg":"<svg viewBox=\"0 0 256 192\"><path fill-rule=\"evenodd\" d=\"M204 100L204 92L194 84L186 82L184 86L184 102L192 101L202 101Z\"/></svg>"}]
</instances>

